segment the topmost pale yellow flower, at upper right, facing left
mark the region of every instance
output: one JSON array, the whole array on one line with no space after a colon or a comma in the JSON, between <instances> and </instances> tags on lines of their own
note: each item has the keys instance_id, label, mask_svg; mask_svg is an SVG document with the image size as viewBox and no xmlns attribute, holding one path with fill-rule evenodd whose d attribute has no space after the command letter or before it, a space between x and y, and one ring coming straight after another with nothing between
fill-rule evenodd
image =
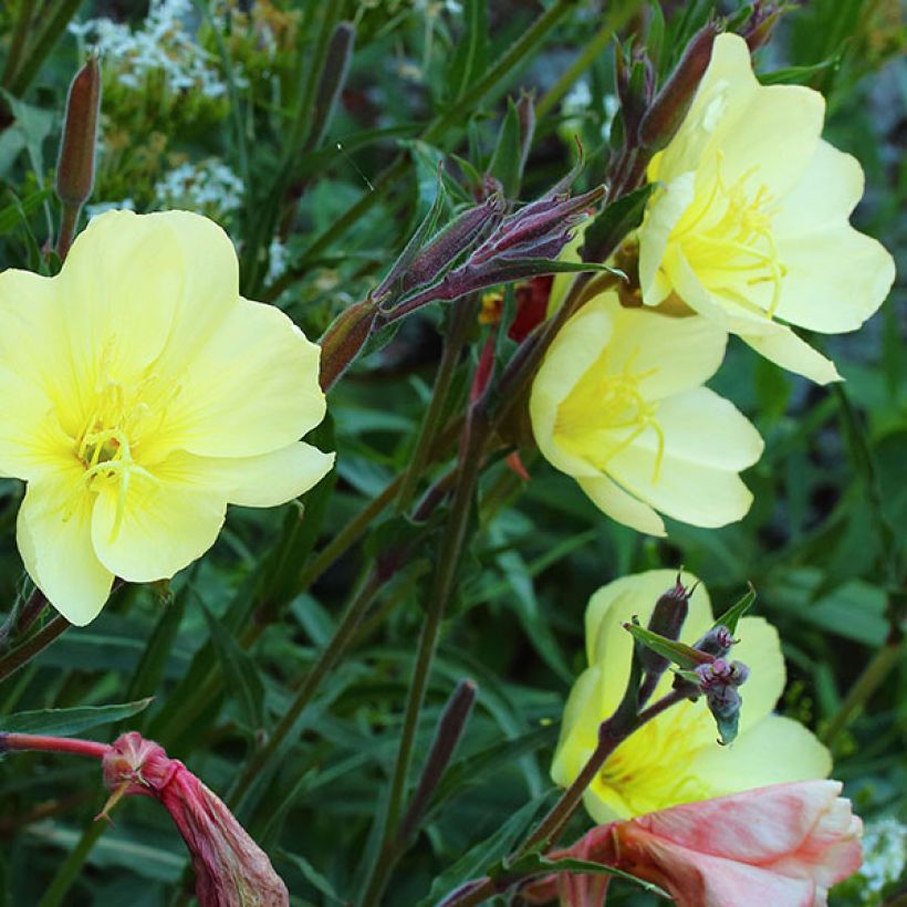
<instances>
[{"instance_id":1,"label":"topmost pale yellow flower, at upper right, facing left","mask_svg":"<svg viewBox=\"0 0 907 907\"><path fill-rule=\"evenodd\" d=\"M895 277L892 257L848 222L863 170L822 140L823 115L819 92L760 85L743 39L720 35L680 129L649 165L660 186L638 234L646 304L679 299L821 384L840 377L834 364L788 324L854 331Z\"/></svg>"}]
</instances>

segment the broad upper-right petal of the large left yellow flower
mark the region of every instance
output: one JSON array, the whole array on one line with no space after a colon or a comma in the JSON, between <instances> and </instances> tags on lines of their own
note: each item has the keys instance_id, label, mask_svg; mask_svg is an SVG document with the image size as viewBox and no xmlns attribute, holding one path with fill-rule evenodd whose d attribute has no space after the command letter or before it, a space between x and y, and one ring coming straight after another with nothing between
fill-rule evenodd
<instances>
[{"instance_id":1,"label":"broad upper-right petal of the large left yellow flower","mask_svg":"<svg viewBox=\"0 0 907 907\"><path fill-rule=\"evenodd\" d=\"M250 457L292 444L324 418L320 352L279 309L241 300L187 363L149 456Z\"/></svg>"}]
</instances>

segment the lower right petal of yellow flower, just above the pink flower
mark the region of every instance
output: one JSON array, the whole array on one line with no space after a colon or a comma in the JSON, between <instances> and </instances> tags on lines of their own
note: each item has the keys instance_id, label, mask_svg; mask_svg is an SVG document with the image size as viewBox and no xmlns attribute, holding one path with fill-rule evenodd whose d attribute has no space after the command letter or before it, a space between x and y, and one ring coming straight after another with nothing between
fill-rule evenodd
<instances>
[{"instance_id":1,"label":"lower right petal of yellow flower, just above the pink flower","mask_svg":"<svg viewBox=\"0 0 907 907\"><path fill-rule=\"evenodd\" d=\"M744 684L740 688L742 713L747 710L747 692ZM779 715L757 722L729 747L700 750L690 765L691 772L708 780L715 791L712 796L827 778L831 770L828 750L800 722Z\"/></svg>"}]
</instances>

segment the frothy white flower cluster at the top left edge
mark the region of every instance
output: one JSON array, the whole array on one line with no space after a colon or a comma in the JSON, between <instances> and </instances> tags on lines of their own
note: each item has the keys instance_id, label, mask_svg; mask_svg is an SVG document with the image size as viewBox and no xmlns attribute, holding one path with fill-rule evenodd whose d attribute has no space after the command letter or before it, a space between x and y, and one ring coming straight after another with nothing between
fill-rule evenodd
<instances>
[{"instance_id":1,"label":"frothy white flower cluster at the top left edge","mask_svg":"<svg viewBox=\"0 0 907 907\"><path fill-rule=\"evenodd\" d=\"M221 97L227 85L216 61L186 29L191 0L152 0L137 31L103 17L70 24L70 31L122 70L117 76L129 88L140 87L152 72L161 72L174 92L196 88L207 97Z\"/></svg>"}]
</instances>

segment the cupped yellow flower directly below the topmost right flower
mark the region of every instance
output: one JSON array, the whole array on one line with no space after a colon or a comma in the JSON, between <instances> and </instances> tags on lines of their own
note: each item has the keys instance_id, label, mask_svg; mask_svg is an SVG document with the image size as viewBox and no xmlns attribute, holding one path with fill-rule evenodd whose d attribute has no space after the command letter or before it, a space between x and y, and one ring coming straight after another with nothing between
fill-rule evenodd
<instances>
[{"instance_id":1,"label":"cupped yellow flower directly below the topmost right flower","mask_svg":"<svg viewBox=\"0 0 907 907\"><path fill-rule=\"evenodd\" d=\"M656 510L720 527L752 502L738 472L762 439L728 400L701 387L727 333L702 317L622 307L605 292L554 338L532 386L544 457L621 523L664 535Z\"/></svg>"}]
</instances>

